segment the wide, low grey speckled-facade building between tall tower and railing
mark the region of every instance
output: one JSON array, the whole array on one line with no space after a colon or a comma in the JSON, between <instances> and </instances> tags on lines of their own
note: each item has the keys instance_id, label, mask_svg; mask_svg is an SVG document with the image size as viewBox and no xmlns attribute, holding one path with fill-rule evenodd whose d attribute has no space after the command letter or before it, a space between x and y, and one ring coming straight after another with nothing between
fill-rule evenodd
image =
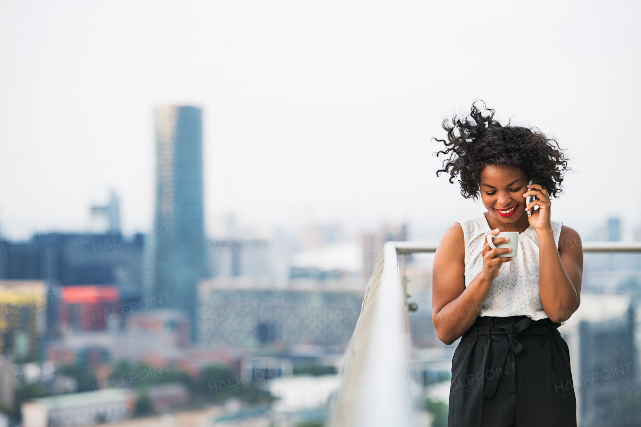
<instances>
[{"instance_id":1,"label":"wide, low grey speckled-facade building between tall tower and railing","mask_svg":"<svg viewBox=\"0 0 641 427\"><path fill-rule=\"evenodd\" d=\"M199 341L206 347L318 346L340 353L360 315L360 279L203 280Z\"/></svg>"}]
</instances>

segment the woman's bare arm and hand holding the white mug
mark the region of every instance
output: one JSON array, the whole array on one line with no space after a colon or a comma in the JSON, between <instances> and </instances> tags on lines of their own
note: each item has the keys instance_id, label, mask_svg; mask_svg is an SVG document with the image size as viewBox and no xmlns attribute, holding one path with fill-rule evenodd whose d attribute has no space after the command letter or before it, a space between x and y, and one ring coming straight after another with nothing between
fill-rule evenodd
<instances>
[{"instance_id":1,"label":"woman's bare arm and hand holding the white mug","mask_svg":"<svg viewBox=\"0 0 641 427\"><path fill-rule=\"evenodd\" d=\"M492 231L493 234L498 232L498 229ZM511 257L496 257L499 253L507 253L508 248L490 249L486 240L483 271L466 288L464 239L460 224L448 228L438 244L432 267L432 322L438 339L448 346L472 326L499 268L503 262L512 260ZM502 243L501 239L494 239L494 242Z\"/></svg>"}]
</instances>

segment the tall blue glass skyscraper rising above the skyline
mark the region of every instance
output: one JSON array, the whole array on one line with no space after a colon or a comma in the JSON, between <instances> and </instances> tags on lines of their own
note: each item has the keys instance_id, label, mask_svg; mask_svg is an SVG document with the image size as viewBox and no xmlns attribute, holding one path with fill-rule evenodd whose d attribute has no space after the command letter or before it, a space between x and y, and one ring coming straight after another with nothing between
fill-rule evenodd
<instances>
[{"instance_id":1,"label":"tall blue glass skyscraper rising above the skyline","mask_svg":"<svg viewBox=\"0 0 641 427\"><path fill-rule=\"evenodd\" d=\"M150 237L148 296L164 296L164 306L183 310L196 331L196 287L206 276L200 108L156 108L156 201Z\"/></svg>"}]
</instances>

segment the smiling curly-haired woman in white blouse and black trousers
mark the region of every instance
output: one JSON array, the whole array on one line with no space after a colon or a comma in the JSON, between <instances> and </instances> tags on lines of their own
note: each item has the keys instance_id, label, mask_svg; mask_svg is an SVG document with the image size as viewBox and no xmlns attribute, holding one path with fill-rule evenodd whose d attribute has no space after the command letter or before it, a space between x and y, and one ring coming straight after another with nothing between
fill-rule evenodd
<instances>
[{"instance_id":1,"label":"smiling curly-haired woman in white blouse and black trousers","mask_svg":"<svg viewBox=\"0 0 641 427\"><path fill-rule=\"evenodd\" d=\"M579 308L583 250L576 231L550 219L567 159L538 130L501 126L488 112L472 105L470 116L445 120L447 142L438 140L447 149L437 156L451 155L437 176L460 175L463 197L480 194L487 209L454 222L434 258L438 338L461 338L449 427L576 426L570 353L557 327ZM488 245L501 231L519 232L516 256Z\"/></svg>"}]
</instances>

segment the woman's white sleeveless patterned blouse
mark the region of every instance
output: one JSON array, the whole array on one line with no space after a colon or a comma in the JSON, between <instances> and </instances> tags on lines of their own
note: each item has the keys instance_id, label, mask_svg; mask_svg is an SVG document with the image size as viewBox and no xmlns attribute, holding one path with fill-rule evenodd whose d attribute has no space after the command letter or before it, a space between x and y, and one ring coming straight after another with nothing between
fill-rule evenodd
<instances>
[{"instance_id":1,"label":"woman's white sleeveless patterned blouse","mask_svg":"<svg viewBox=\"0 0 641 427\"><path fill-rule=\"evenodd\" d=\"M483 270L483 244L492 231L483 213L463 221L456 221L465 235L465 287ZM454 224L456 224L454 222ZM554 242L558 247L562 221L551 221ZM499 275L481 307L479 316L526 315L537 321L545 319L541 296L538 292L538 239L537 231L529 226L519 234L517 256L504 263Z\"/></svg>"}]
</instances>

